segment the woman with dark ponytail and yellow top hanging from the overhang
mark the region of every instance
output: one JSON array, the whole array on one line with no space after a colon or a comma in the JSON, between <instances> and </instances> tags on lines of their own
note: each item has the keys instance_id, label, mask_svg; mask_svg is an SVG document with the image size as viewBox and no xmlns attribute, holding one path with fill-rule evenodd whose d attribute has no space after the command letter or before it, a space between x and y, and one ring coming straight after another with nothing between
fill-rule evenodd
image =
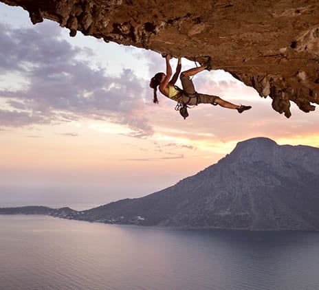
<instances>
[{"instance_id":1,"label":"woman with dark ponytail and yellow top hanging from the overhang","mask_svg":"<svg viewBox=\"0 0 319 290\"><path fill-rule=\"evenodd\" d=\"M219 106L228 108L228 109L236 109L239 113L243 113L243 111L249 110L251 106L243 106L232 104L231 102L227 102L222 100L218 96L206 95L204 93L197 93L195 91L194 84L192 80L190 80L190 76L194 76L195 74L203 71L204 69L210 70L210 63L201 65L201 67L194 67L192 69L188 69L187 71L183 71L180 76L181 85L183 89L179 89L175 87L175 82L181 72L181 58L178 58L178 63L176 67L175 74L172 78L172 68L170 67L170 56L164 55L166 60L166 74L157 73L153 78L151 78L150 87L154 90L154 100L153 102L158 103L157 100L157 87L159 86L159 91L166 97L177 101L181 105L196 105L196 104L219 104Z\"/></svg>"}]
</instances>

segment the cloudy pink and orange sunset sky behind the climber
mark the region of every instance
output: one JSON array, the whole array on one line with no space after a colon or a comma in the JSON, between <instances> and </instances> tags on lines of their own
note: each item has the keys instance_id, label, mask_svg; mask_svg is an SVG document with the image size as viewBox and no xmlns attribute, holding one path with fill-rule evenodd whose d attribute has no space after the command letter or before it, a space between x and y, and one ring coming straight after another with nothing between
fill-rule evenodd
<instances>
[{"instance_id":1,"label":"cloudy pink and orange sunset sky behind the climber","mask_svg":"<svg viewBox=\"0 0 319 290\"><path fill-rule=\"evenodd\" d=\"M194 66L182 58L182 69ZM0 3L0 207L82 210L142 197L252 137L319 147L318 108L303 113L292 103L287 119L227 72L203 71L193 78L197 91L252 109L199 104L184 120L159 93L153 104L148 84L158 71L158 53L72 38L58 23L32 25L28 12Z\"/></svg>"}]
</instances>

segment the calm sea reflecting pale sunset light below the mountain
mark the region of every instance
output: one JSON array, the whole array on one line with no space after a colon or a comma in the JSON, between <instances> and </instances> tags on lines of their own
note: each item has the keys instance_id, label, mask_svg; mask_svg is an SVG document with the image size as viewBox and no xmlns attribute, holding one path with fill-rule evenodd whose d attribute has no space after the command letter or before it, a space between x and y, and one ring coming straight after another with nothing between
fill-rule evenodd
<instances>
[{"instance_id":1,"label":"calm sea reflecting pale sunset light below the mountain","mask_svg":"<svg viewBox=\"0 0 319 290\"><path fill-rule=\"evenodd\" d=\"M319 233L0 216L0 289L319 289Z\"/></svg>"}]
</instances>

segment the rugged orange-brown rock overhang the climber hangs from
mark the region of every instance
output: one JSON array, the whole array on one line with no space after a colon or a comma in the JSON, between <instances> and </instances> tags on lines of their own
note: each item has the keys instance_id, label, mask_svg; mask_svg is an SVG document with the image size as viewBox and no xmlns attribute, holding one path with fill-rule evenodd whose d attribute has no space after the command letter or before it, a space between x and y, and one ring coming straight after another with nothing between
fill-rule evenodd
<instances>
[{"instance_id":1,"label":"rugged orange-brown rock overhang the climber hangs from","mask_svg":"<svg viewBox=\"0 0 319 290\"><path fill-rule=\"evenodd\" d=\"M229 71L290 117L319 104L316 0L1 0L85 35Z\"/></svg>"}]
</instances>

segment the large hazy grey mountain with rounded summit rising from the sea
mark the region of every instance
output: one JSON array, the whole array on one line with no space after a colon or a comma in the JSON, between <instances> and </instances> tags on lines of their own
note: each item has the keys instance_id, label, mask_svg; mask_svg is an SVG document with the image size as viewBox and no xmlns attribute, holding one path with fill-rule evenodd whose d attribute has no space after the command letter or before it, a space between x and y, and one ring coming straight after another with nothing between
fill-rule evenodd
<instances>
[{"instance_id":1,"label":"large hazy grey mountain with rounded summit rising from the sea","mask_svg":"<svg viewBox=\"0 0 319 290\"><path fill-rule=\"evenodd\" d=\"M86 221L250 230L319 230L319 148L239 142L217 164L159 192L73 216Z\"/></svg>"}]
</instances>

